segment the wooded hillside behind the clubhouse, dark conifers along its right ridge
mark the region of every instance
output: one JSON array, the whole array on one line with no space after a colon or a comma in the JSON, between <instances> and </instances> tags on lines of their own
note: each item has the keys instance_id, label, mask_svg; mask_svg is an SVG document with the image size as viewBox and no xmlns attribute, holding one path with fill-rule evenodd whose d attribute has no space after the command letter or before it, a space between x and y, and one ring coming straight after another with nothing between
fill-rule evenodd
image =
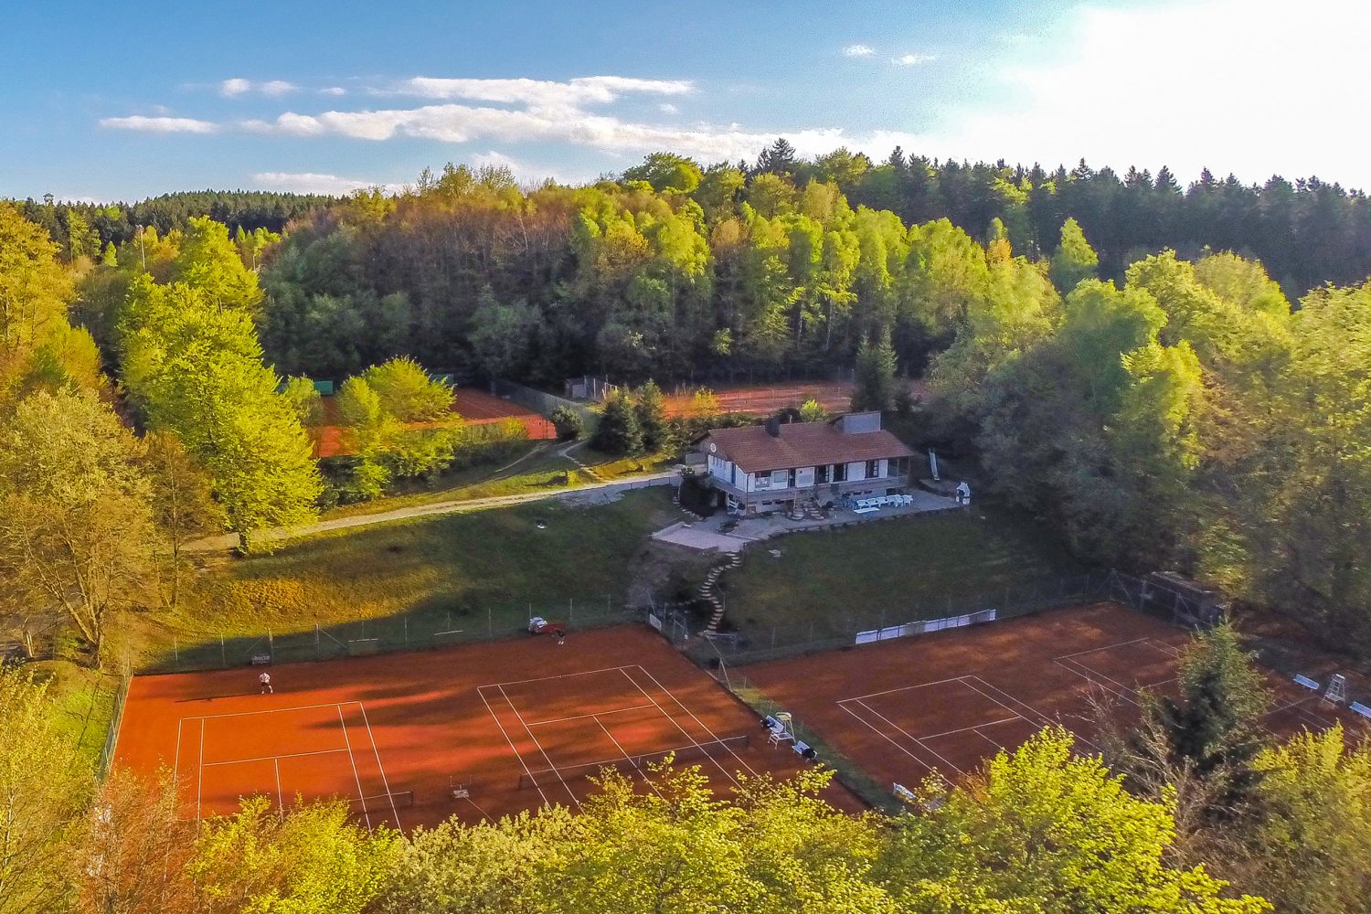
<instances>
[{"instance_id":1,"label":"wooded hillside behind the clubhouse, dark conifers along its right ridge","mask_svg":"<svg viewBox=\"0 0 1371 914\"><path fill-rule=\"evenodd\" d=\"M890 330L920 371L982 293L975 243L1045 270L1067 219L1102 278L1167 248L1259 259L1291 299L1371 273L1366 199L1316 180L1205 173L1182 190L1165 169L1120 180L899 149L810 162L779 140L753 164L653 153L581 188L448 166L400 197L315 211L269 255L263 344L282 371L318 377L404 352L546 384L824 373Z\"/></svg>"}]
</instances>

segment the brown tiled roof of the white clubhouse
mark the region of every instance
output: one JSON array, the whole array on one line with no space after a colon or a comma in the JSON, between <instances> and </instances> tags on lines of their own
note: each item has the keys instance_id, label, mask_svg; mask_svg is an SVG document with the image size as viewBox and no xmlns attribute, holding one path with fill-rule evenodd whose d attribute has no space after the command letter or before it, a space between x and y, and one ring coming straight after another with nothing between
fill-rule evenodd
<instances>
[{"instance_id":1,"label":"brown tiled roof of the white clubhouse","mask_svg":"<svg viewBox=\"0 0 1371 914\"><path fill-rule=\"evenodd\" d=\"M761 425L714 429L705 437L706 451L710 444L717 444L721 456L736 463L744 473L906 458L914 454L884 429L845 434L828 422L790 422L780 426L779 437L772 437Z\"/></svg>"}]
</instances>

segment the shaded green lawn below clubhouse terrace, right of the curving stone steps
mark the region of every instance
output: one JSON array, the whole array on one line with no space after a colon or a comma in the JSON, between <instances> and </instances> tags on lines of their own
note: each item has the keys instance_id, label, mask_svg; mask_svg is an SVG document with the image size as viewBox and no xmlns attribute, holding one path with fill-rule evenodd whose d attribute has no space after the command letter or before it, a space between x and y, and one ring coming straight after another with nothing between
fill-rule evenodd
<instances>
[{"instance_id":1,"label":"shaded green lawn below clubhouse terrace, right of the curving stone steps","mask_svg":"<svg viewBox=\"0 0 1371 914\"><path fill-rule=\"evenodd\" d=\"M749 547L742 567L724 574L723 592L729 622L750 647L768 648L773 629L777 647L839 639L1004 607L1016 591L1024 596L1082 571L1050 530L980 504Z\"/></svg>"}]
</instances>

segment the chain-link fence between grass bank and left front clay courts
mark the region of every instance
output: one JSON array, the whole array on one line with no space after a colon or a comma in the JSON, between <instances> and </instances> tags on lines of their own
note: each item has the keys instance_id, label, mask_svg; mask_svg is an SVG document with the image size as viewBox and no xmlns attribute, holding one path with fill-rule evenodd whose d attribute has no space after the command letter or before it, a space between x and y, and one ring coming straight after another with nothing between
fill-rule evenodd
<instances>
[{"instance_id":1,"label":"chain-link fence between grass bank and left front clay courts","mask_svg":"<svg viewBox=\"0 0 1371 914\"><path fill-rule=\"evenodd\" d=\"M526 636L529 619L535 617L562 622L572 630L643 618L642 613L625 608L610 595L484 608L420 608L377 619L263 629L251 634L181 634L145 660L140 673L188 673L436 650Z\"/></svg>"}]
</instances>

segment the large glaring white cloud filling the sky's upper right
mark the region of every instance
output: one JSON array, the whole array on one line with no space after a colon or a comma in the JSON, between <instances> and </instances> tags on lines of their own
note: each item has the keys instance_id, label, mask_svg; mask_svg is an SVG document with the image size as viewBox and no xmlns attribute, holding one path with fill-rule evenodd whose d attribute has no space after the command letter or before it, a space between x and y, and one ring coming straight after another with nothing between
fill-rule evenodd
<instances>
[{"instance_id":1,"label":"large glaring white cloud filling the sky's upper right","mask_svg":"<svg viewBox=\"0 0 1371 914\"><path fill-rule=\"evenodd\" d=\"M934 143L958 158L1167 164L1182 181L1208 166L1249 182L1371 185L1371 129L1355 114L1371 107L1371 4L1307 0L1300 21L1335 27L1297 27L1282 0L1097 3L1002 64L1001 101L954 116Z\"/></svg>"}]
</instances>

